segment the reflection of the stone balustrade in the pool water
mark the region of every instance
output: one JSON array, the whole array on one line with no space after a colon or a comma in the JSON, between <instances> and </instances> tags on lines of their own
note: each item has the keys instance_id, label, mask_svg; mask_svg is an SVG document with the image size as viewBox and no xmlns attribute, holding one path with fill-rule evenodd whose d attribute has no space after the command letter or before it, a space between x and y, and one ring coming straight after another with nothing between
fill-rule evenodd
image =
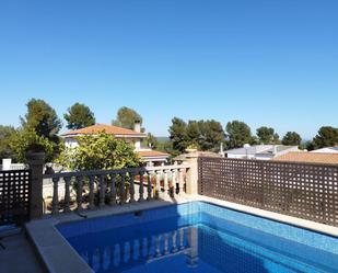
<instances>
[{"instance_id":1,"label":"reflection of the stone balustrade in the pool water","mask_svg":"<svg viewBox=\"0 0 338 273\"><path fill-rule=\"evenodd\" d=\"M152 263L178 254L185 255L190 265L196 263L197 240L195 227L180 227L144 238L80 249L80 255L95 271L124 271L136 264Z\"/></svg>"}]
</instances>

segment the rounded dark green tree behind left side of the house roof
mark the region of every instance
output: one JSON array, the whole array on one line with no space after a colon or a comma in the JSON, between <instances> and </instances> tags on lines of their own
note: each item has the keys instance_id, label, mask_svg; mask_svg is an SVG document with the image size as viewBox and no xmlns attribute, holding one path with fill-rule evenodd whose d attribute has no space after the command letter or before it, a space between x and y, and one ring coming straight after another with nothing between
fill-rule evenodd
<instances>
[{"instance_id":1,"label":"rounded dark green tree behind left side of the house roof","mask_svg":"<svg viewBox=\"0 0 338 273\"><path fill-rule=\"evenodd\" d=\"M89 106L81 103L75 103L69 107L63 117L69 129L80 129L95 124L94 113Z\"/></svg>"}]
</instances>

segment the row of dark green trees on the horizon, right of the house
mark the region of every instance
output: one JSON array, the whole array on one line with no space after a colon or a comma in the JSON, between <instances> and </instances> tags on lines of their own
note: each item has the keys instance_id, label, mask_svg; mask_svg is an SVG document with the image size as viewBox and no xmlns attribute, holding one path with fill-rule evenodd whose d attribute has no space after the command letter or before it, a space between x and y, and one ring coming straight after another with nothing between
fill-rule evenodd
<instances>
[{"instance_id":1,"label":"row of dark green trees on the horizon, right of the house","mask_svg":"<svg viewBox=\"0 0 338 273\"><path fill-rule=\"evenodd\" d=\"M302 149L318 149L338 145L338 128L331 126L320 127L312 141L304 144L296 132L288 132L281 139L271 127L261 126L256 134L244 122L232 121L223 128L220 122L188 121L174 117L170 126L172 152L180 153L189 147L200 150L219 151L221 143L225 149L240 148L244 144L282 144L299 146Z\"/></svg>"}]
</instances>

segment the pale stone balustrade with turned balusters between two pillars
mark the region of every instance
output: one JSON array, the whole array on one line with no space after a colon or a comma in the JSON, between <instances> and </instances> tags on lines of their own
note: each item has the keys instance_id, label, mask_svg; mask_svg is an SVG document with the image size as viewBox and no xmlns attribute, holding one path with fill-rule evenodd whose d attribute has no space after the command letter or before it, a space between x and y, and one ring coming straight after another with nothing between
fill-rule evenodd
<instances>
[{"instance_id":1,"label":"pale stone balustrade with turned balusters between two pillars","mask_svg":"<svg viewBox=\"0 0 338 273\"><path fill-rule=\"evenodd\" d=\"M125 168L44 174L53 181L51 214L73 208L93 209L106 205L147 202L183 195L189 166ZM59 196L62 185L65 196Z\"/></svg>"}]
</instances>

